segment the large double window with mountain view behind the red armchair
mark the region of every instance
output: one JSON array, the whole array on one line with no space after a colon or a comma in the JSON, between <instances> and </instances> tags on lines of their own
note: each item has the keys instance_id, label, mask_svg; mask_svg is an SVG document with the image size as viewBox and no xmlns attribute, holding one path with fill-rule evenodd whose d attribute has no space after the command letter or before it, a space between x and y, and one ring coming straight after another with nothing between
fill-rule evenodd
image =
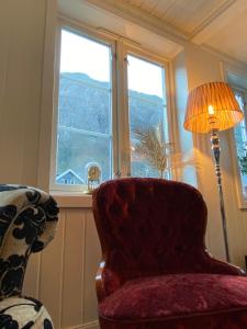
<instances>
[{"instance_id":1,"label":"large double window with mountain view behind the red armchair","mask_svg":"<svg viewBox=\"0 0 247 329\"><path fill-rule=\"evenodd\" d=\"M81 189L90 164L102 181L117 173L158 177L135 145L136 131L161 127L169 139L165 64L123 42L67 27L58 53L52 189Z\"/></svg>"}]
</instances>

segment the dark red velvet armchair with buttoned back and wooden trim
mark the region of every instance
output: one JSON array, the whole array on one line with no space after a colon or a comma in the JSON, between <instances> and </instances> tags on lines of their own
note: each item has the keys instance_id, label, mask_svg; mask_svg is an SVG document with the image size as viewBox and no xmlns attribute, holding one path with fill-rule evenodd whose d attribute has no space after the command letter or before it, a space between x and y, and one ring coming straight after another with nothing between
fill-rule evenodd
<instances>
[{"instance_id":1,"label":"dark red velvet armchair with buttoned back and wooden trim","mask_svg":"<svg viewBox=\"0 0 247 329\"><path fill-rule=\"evenodd\" d=\"M205 250L206 205L159 179L105 182L93 193L102 247L101 329L247 328L247 277Z\"/></svg>"}]
</instances>

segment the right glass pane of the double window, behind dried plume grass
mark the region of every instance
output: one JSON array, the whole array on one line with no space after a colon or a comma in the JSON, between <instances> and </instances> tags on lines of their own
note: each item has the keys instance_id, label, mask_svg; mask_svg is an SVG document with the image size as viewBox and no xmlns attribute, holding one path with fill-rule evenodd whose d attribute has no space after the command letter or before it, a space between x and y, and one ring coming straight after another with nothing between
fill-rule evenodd
<instances>
[{"instance_id":1,"label":"right glass pane of the double window, behind dried plume grass","mask_svg":"<svg viewBox=\"0 0 247 329\"><path fill-rule=\"evenodd\" d=\"M165 70L133 55L127 56L131 132L131 173L160 177L166 151L167 128ZM167 151L169 151L167 149ZM161 167L160 167L161 166Z\"/></svg>"}]
</instances>

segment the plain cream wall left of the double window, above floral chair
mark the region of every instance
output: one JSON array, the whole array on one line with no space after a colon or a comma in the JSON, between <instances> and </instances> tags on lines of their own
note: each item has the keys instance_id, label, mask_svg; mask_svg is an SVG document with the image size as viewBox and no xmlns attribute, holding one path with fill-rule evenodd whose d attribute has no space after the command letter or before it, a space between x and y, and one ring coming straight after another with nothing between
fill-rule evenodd
<instances>
[{"instance_id":1,"label":"plain cream wall left of the double window, above floral chair","mask_svg":"<svg viewBox=\"0 0 247 329\"><path fill-rule=\"evenodd\" d=\"M0 2L2 183L37 182L46 2Z\"/></svg>"}]
</instances>

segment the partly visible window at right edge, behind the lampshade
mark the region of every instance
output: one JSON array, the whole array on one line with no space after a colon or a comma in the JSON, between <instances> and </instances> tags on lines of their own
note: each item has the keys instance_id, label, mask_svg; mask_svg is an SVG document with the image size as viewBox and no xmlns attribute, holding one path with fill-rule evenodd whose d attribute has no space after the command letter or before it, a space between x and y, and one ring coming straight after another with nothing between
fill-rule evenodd
<instances>
[{"instance_id":1,"label":"partly visible window at right edge, behind the lampshade","mask_svg":"<svg viewBox=\"0 0 247 329\"><path fill-rule=\"evenodd\" d=\"M235 98L245 114L243 120L234 128L234 137L236 144L236 155L238 159L242 193L247 200L247 131L246 131L246 92L245 90L234 89Z\"/></svg>"}]
</instances>

